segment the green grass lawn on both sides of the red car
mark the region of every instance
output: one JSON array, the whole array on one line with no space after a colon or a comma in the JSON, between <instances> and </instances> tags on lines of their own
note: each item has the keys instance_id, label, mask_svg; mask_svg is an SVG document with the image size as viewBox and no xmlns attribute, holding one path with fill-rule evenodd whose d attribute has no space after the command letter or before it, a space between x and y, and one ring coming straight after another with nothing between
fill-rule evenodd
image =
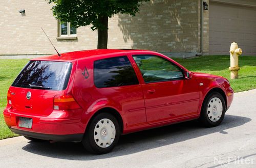
<instances>
[{"instance_id":1,"label":"green grass lawn on both sides of the red car","mask_svg":"<svg viewBox=\"0 0 256 168\"><path fill-rule=\"evenodd\" d=\"M212 55L194 59L174 59L190 71L210 73L226 77L235 92L256 88L256 57L240 56L239 79L230 79L229 56ZM4 122L2 111L6 106L7 91L28 60L0 60L0 139L17 136Z\"/></svg>"}]
</instances>

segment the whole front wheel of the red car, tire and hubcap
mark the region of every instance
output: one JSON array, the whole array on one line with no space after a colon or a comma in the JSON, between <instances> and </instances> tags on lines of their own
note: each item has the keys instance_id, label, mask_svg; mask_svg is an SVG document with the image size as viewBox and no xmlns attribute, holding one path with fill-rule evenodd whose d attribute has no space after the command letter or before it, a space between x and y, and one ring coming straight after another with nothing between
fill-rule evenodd
<instances>
[{"instance_id":1,"label":"whole front wheel of the red car, tire and hubcap","mask_svg":"<svg viewBox=\"0 0 256 168\"><path fill-rule=\"evenodd\" d=\"M225 100L221 94L214 92L205 97L199 121L206 127L221 124L226 111Z\"/></svg>"}]
</instances>

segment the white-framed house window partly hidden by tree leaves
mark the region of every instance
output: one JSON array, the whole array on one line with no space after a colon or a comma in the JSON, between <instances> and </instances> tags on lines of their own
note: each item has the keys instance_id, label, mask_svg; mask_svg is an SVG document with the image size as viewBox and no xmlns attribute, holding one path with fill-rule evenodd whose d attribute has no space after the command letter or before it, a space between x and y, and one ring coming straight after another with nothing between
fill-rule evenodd
<instances>
[{"instance_id":1,"label":"white-framed house window partly hidden by tree leaves","mask_svg":"<svg viewBox=\"0 0 256 168\"><path fill-rule=\"evenodd\" d=\"M76 37L76 27L71 22L58 21L58 37Z\"/></svg>"}]
</instances>

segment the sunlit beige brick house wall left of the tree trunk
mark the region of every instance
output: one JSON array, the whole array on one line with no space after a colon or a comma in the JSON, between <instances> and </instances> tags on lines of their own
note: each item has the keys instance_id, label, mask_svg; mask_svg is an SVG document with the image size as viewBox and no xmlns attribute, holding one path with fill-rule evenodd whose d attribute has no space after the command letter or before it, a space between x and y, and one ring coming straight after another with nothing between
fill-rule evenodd
<instances>
[{"instance_id":1,"label":"sunlit beige brick house wall left of the tree trunk","mask_svg":"<svg viewBox=\"0 0 256 168\"><path fill-rule=\"evenodd\" d=\"M57 20L45 0L2 0L0 6L2 55L55 53L41 27L60 52L97 47L97 32L91 32L90 27L80 27L77 40L56 40ZM18 12L20 9L25 9L25 15Z\"/></svg>"}]
</instances>

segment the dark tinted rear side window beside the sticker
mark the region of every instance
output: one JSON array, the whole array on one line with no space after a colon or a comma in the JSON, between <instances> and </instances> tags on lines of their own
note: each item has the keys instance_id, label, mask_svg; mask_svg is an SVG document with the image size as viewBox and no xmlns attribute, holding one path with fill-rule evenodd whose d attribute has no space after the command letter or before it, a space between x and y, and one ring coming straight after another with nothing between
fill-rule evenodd
<instances>
[{"instance_id":1,"label":"dark tinted rear side window beside the sticker","mask_svg":"<svg viewBox=\"0 0 256 168\"><path fill-rule=\"evenodd\" d=\"M126 56L94 62L94 83L97 88L138 85L133 66Z\"/></svg>"}]
</instances>

